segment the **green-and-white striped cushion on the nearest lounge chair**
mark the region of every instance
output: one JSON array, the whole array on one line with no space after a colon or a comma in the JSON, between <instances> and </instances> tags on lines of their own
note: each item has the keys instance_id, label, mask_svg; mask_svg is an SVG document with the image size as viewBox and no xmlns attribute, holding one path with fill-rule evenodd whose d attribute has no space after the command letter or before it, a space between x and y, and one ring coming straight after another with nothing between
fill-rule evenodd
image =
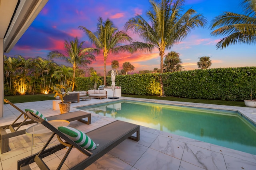
<instances>
[{"instance_id":1,"label":"green-and-white striped cushion on the nearest lounge chair","mask_svg":"<svg viewBox=\"0 0 256 170\"><path fill-rule=\"evenodd\" d=\"M64 133L70 139L72 139L75 143L80 145L80 147L87 150L96 149L97 145L94 143L94 141L92 141L92 139L90 139L90 137L88 137L82 131L67 126L60 126L58 127L58 130Z\"/></svg>"}]
</instances>

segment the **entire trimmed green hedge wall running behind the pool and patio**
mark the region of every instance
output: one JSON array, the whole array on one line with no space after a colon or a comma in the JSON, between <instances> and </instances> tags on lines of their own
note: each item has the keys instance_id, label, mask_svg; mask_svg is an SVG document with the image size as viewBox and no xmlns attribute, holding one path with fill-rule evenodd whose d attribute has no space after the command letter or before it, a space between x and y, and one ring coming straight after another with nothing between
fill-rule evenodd
<instances>
[{"instance_id":1,"label":"entire trimmed green hedge wall running behind the pool and patio","mask_svg":"<svg viewBox=\"0 0 256 170\"><path fill-rule=\"evenodd\" d=\"M116 86L122 87L122 94L160 95L159 76L159 73L117 75ZM251 85L256 86L256 67L179 71L163 73L162 77L166 96L242 101L250 99ZM111 86L110 76L106 82ZM76 90L90 88L93 83L88 77L76 78Z\"/></svg>"}]
</instances>

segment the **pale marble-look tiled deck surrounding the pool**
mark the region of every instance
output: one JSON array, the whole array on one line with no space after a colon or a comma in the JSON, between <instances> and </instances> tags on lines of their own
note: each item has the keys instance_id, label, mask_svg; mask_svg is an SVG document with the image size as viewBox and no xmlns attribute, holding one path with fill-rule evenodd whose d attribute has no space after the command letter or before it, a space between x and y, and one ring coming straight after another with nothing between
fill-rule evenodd
<instances>
[{"instance_id":1,"label":"pale marble-look tiled deck surrounding the pool","mask_svg":"<svg viewBox=\"0 0 256 170\"><path fill-rule=\"evenodd\" d=\"M116 100L139 100L146 102L156 102L164 104L176 104L180 106L204 107L212 109L228 109L239 111L243 116L253 122L256 122L256 108L234 107L212 104L198 104L188 102L174 102L165 100L149 100L139 98L120 97ZM116 101L112 99L94 99L73 102L71 111L76 111L75 107L88 106L104 102ZM29 102L15 104L20 109L25 108L37 109L43 115L57 115L59 110L52 109L52 100ZM0 126L12 123L20 113L10 105L4 105L4 117L0 118ZM23 118L22 118L23 119ZM86 125L79 121L70 122L70 127L74 127L84 131L85 133L96 129L97 127L106 125L113 118L92 114L92 123ZM22 128L28 128L31 125ZM44 137L35 137L35 143L46 142L49 135ZM17 169L17 160L25 158L31 154L31 137L20 135L9 139L10 151L0 154L1 166L0 170ZM42 145L33 147L33 153L42 149ZM63 152L52 154L46 158L47 165L51 169L55 169L63 156ZM70 164L79 161L83 155L78 156L76 149L70 153L62 169L69 169ZM79 158L79 159L77 159ZM30 166L33 170L39 169L36 164ZM126 139L120 145L112 149L110 152L102 156L86 170L111 169L111 170L256 170L256 155L248 154L238 150L220 147L202 141L196 141L186 137L174 135L151 129L140 127L140 141L132 141Z\"/></svg>"}]
</instances>

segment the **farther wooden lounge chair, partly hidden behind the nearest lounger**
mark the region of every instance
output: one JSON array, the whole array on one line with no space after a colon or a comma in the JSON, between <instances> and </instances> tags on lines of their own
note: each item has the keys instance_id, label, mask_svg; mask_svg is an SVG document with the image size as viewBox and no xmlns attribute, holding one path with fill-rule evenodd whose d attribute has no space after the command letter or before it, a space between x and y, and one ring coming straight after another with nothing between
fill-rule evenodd
<instances>
[{"instance_id":1,"label":"farther wooden lounge chair, partly hidden behind the nearest lounger","mask_svg":"<svg viewBox=\"0 0 256 170\"><path fill-rule=\"evenodd\" d=\"M19 130L22 125L28 125L31 123L35 123L33 120L28 119L28 115L26 112L22 111L20 108L12 104L7 99L4 99L4 102L10 104L15 109L20 111L20 115L17 117L17 119L11 124L11 125L4 125L0 127L0 151L1 153L5 153L9 151L9 138L23 135L26 132L26 129ZM24 116L24 121L17 123L17 121L20 119L21 116ZM88 121L83 120L82 118L88 117ZM61 115L54 115L50 117L46 117L48 120L67 120L67 121L81 121L86 124L91 123L91 113L86 113L84 111L74 111L70 113L65 113ZM10 129L10 133L7 133L6 130Z\"/></svg>"}]
</instances>

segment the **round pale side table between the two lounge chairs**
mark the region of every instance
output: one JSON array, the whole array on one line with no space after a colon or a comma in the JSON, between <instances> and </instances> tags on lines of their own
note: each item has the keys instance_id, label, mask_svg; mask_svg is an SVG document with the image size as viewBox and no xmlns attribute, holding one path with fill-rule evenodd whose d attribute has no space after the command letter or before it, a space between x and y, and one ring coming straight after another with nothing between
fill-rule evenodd
<instances>
[{"instance_id":1,"label":"round pale side table between the two lounge chairs","mask_svg":"<svg viewBox=\"0 0 256 170\"><path fill-rule=\"evenodd\" d=\"M66 120L50 120L48 121L51 125L53 125L56 129L58 129L59 126L69 126L69 121ZM31 136L31 154L33 151L34 145L34 137L40 137L44 135L52 134L53 132L42 125L41 123L38 123L36 125L33 125L26 129L26 135Z\"/></svg>"}]
</instances>

